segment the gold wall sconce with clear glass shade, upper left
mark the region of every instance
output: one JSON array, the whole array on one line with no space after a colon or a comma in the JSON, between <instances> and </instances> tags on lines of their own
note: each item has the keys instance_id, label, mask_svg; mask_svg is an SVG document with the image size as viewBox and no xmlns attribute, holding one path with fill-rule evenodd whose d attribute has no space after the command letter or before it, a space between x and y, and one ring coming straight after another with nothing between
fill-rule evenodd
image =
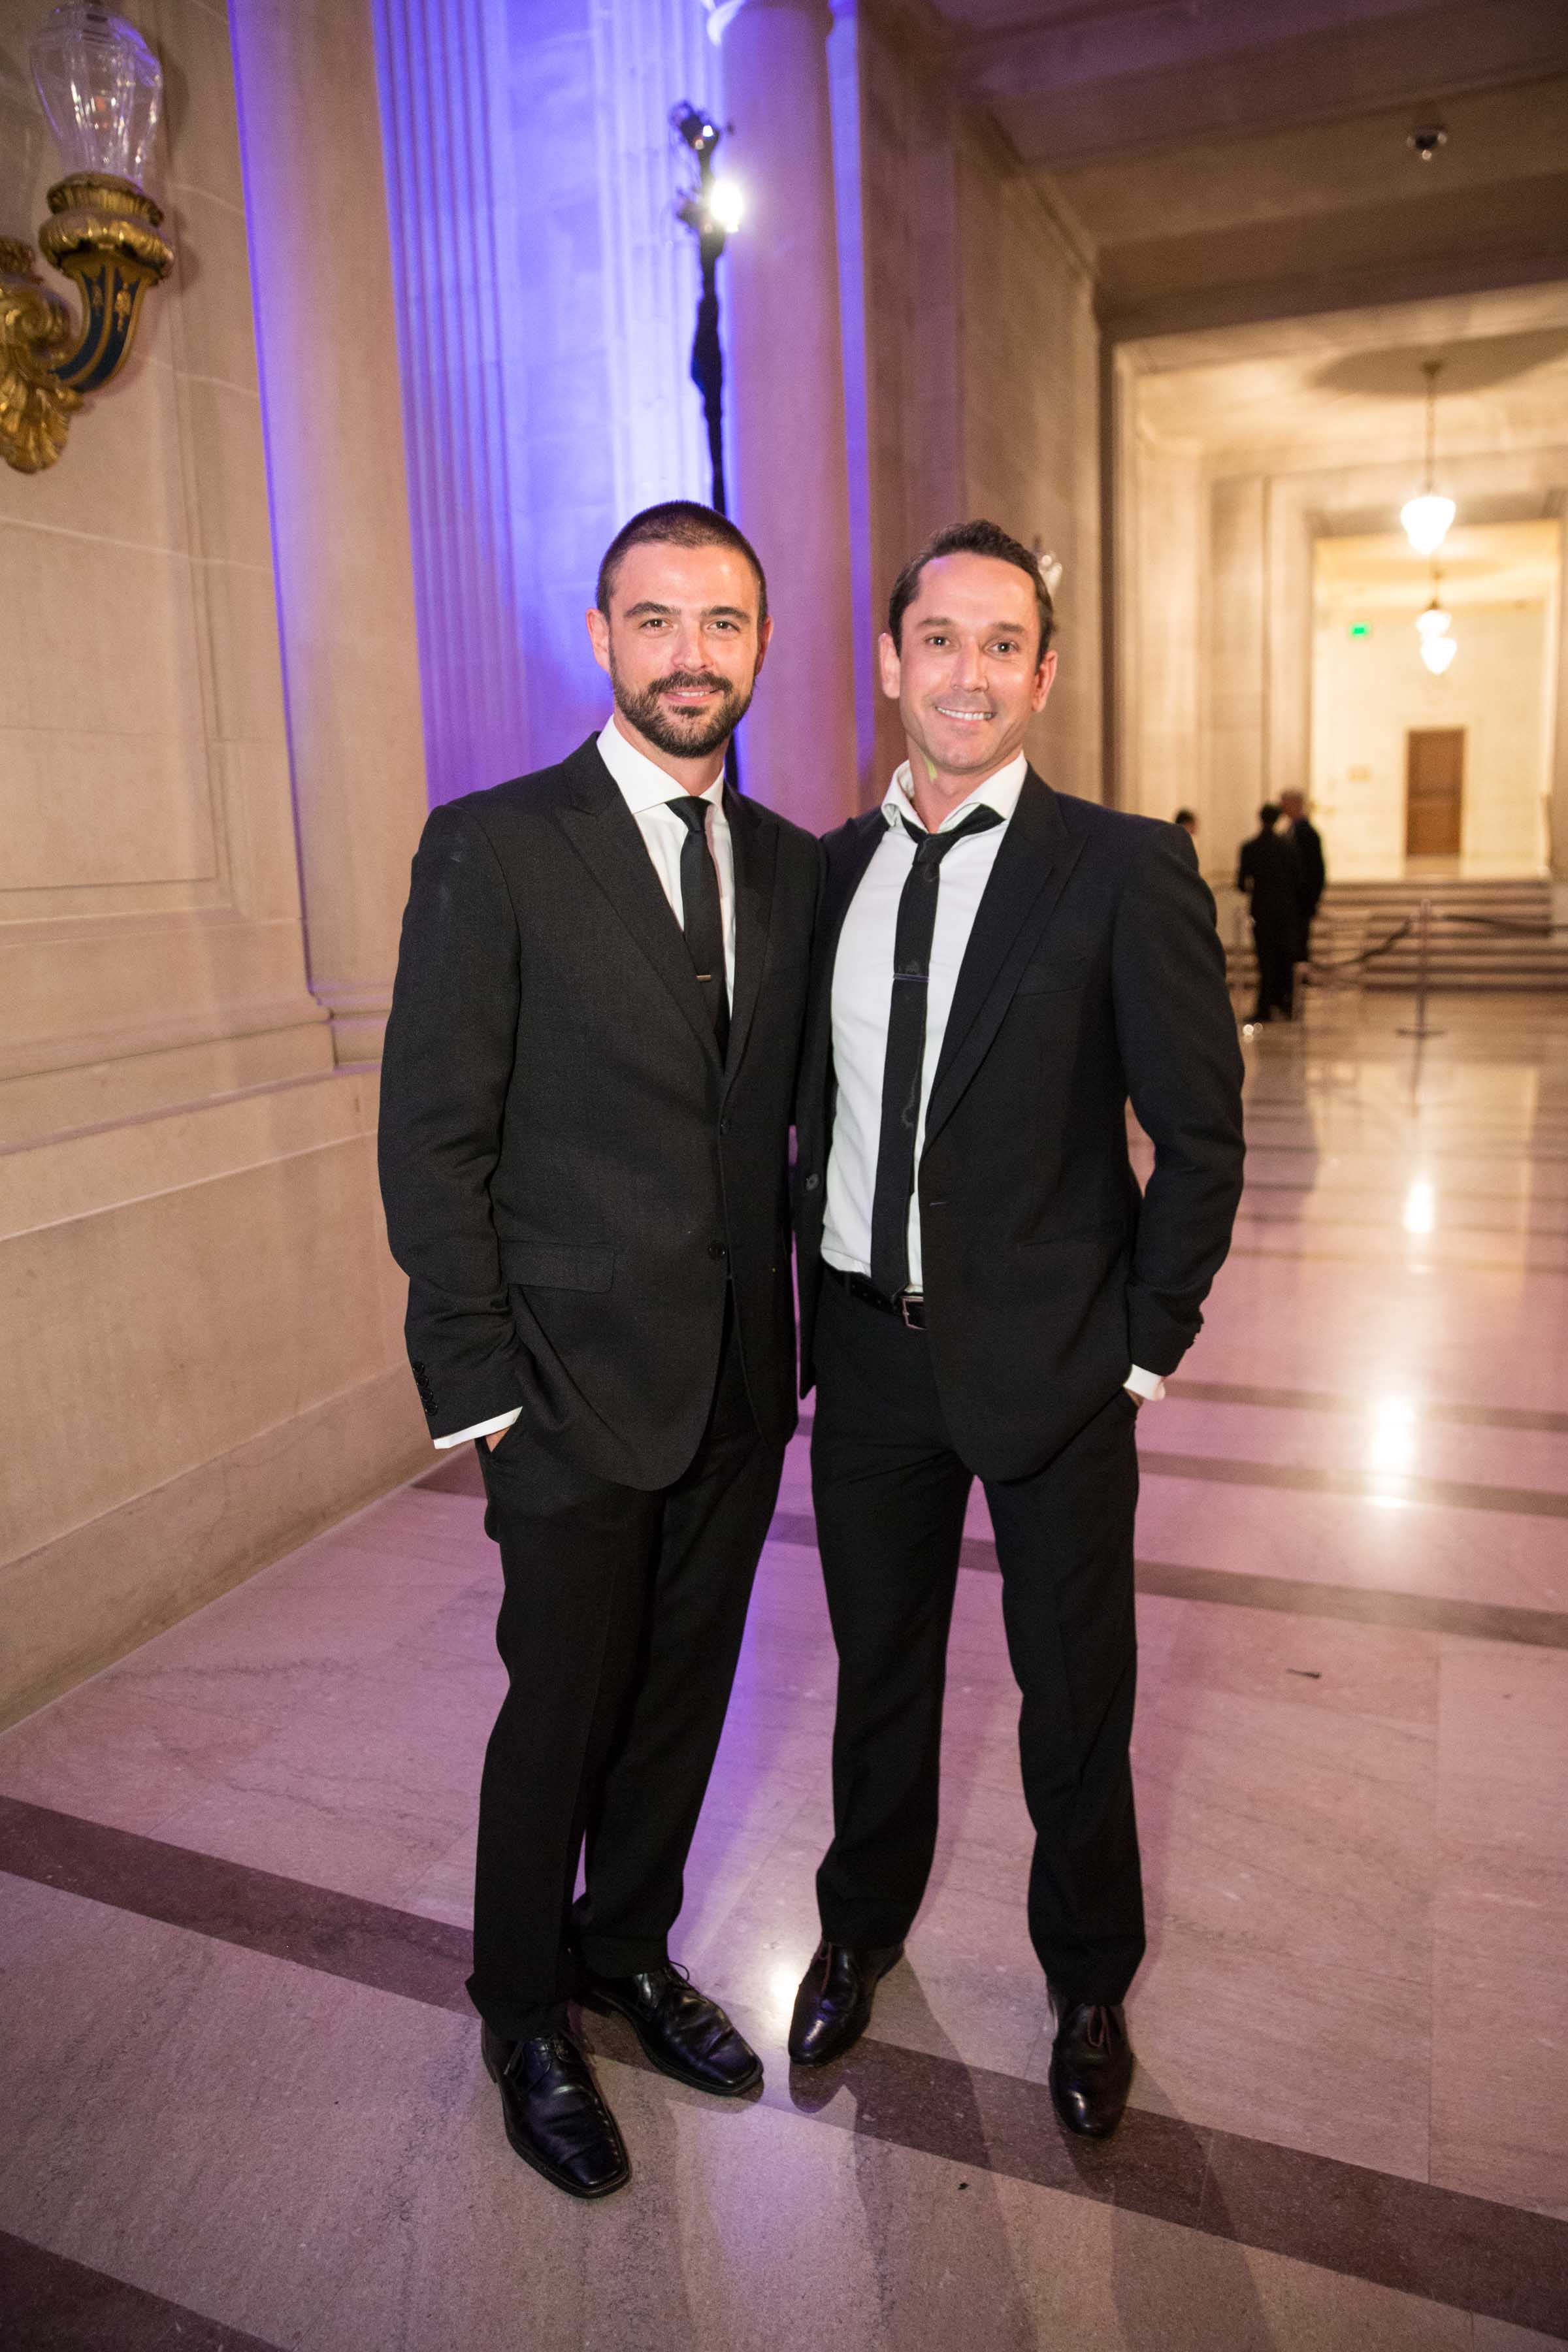
<instances>
[{"instance_id":1,"label":"gold wall sconce with clear glass shade, upper left","mask_svg":"<svg viewBox=\"0 0 1568 2352\"><path fill-rule=\"evenodd\" d=\"M71 416L129 358L141 296L174 268L162 212L141 188L162 103L162 66L136 26L92 0L66 0L31 45L33 82L66 179L38 230L45 259L75 280L80 320L33 268L33 247L0 221L0 456L42 473Z\"/></svg>"}]
</instances>

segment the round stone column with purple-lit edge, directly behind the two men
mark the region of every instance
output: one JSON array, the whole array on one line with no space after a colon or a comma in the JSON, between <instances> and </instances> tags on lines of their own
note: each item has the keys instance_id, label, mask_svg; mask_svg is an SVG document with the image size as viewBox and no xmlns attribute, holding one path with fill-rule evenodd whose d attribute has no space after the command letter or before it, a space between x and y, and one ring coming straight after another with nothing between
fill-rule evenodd
<instances>
[{"instance_id":1,"label":"round stone column with purple-lit edge, directly behind the two men","mask_svg":"<svg viewBox=\"0 0 1568 2352\"><path fill-rule=\"evenodd\" d=\"M736 520L776 635L745 722L745 788L813 833L856 809L844 350L823 0L745 0L724 31L724 256Z\"/></svg>"}]
</instances>

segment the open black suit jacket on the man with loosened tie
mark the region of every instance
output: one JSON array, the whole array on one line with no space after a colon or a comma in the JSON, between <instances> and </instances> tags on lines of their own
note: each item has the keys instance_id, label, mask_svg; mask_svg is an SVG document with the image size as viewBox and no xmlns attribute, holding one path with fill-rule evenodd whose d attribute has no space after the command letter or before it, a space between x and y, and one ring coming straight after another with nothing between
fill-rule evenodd
<instances>
[{"instance_id":1,"label":"open black suit jacket on the man with loosened tie","mask_svg":"<svg viewBox=\"0 0 1568 2352\"><path fill-rule=\"evenodd\" d=\"M804 1383L832 1143L832 964L884 833L827 835L797 1112ZM1126 1103L1154 1143L1147 1192ZM926 1327L952 1439L1039 1470L1128 1364L1173 1371L1241 1197L1241 1049L1213 898L1180 826L1030 771L976 913L917 1171Z\"/></svg>"}]
</instances>

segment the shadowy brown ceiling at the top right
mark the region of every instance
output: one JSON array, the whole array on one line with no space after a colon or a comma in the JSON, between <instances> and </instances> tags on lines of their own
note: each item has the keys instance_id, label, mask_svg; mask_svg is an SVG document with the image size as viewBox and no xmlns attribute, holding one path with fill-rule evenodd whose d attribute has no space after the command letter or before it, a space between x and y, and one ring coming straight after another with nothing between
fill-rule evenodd
<instances>
[{"instance_id":1,"label":"shadowy brown ceiling at the top right","mask_svg":"<svg viewBox=\"0 0 1568 2352\"><path fill-rule=\"evenodd\" d=\"M938 0L936 19L1117 339L1568 275L1563 0ZM1432 162L1406 143L1422 122L1448 132Z\"/></svg>"}]
</instances>

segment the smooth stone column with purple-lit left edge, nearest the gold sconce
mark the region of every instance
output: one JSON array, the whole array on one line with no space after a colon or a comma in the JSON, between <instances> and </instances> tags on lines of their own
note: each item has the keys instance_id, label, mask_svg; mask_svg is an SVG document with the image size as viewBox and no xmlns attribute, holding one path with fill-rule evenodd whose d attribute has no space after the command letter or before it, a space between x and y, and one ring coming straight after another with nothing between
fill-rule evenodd
<instances>
[{"instance_id":1,"label":"smooth stone column with purple-lit left edge, nearest the gold sconce","mask_svg":"<svg viewBox=\"0 0 1568 2352\"><path fill-rule=\"evenodd\" d=\"M369 0L230 0L310 988L369 1061L425 816Z\"/></svg>"}]
</instances>

